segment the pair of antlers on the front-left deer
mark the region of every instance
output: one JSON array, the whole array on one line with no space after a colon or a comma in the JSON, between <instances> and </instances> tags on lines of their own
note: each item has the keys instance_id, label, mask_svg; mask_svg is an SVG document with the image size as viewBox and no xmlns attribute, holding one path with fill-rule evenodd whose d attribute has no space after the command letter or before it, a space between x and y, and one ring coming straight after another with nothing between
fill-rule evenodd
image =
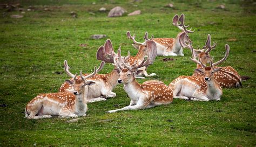
<instances>
[{"instance_id":1,"label":"pair of antlers on the front-left deer","mask_svg":"<svg viewBox=\"0 0 256 147\"><path fill-rule=\"evenodd\" d=\"M86 80L86 79L88 79L88 78L91 78L93 75L95 75L96 73L98 73L99 71L101 71L102 68L104 67L104 65L105 65L105 62L104 62L104 61L100 62L99 68L97 69L97 67L95 66L93 73L91 73L91 74L89 74L89 75L86 75L86 76L83 76L82 70L81 70L81 71L80 71L80 77L81 77L83 80ZM65 70L66 74L68 74L71 78L73 78L74 80L76 80L77 73L74 75L74 74L72 74L72 73L69 71L69 69L70 69L70 67L68 66L68 61L65 60L65 61L64 61L64 70Z\"/></svg>"}]
</instances>

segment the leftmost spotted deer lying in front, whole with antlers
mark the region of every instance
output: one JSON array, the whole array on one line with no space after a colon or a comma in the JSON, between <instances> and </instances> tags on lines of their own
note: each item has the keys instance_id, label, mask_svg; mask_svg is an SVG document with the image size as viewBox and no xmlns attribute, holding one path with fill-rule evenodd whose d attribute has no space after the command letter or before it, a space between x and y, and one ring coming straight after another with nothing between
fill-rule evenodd
<instances>
[{"instance_id":1,"label":"leftmost spotted deer lying in front, whole with antlers","mask_svg":"<svg viewBox=\"0 0 256 147\"><path fill-rule=\"evenodd\" d=\"M65 61L65 63L67 63ZM99 69L94 69L94 72L83 76L82 70L80 76L77 73L74 75L68 73L74 80L70 82L73 86L73 94L71 93L46 93L39 94L32 99L25 108L25 117L29 119L50 118L52 116L62 117L78 117L86 116L87 104L86 98L89 86L95 84L93 81L87 81L97 72L102 69L104 62L100 65ZM65 69L69 68L65 64Z\"/></svg>"}]
</instances>

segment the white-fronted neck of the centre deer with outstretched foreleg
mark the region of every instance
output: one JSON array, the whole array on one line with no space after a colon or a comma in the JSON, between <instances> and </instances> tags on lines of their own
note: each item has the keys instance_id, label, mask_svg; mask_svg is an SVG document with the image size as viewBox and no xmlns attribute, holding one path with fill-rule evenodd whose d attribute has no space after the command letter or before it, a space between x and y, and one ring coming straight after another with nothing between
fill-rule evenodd
<instances>
[{"instance_id":1,"label":"white-fronted neck of the centre deer with outstretched foreleg","mask_svg":"<svg viewBox=\"0 0 256 147\"><path fill-rule=\"evenodd\" d=\"M141 96L141 85L136 81L134 76L132 77L131 82L124 84L124 90L129 95L131 100L138 100Z\"/></svg>"}]
</instances>

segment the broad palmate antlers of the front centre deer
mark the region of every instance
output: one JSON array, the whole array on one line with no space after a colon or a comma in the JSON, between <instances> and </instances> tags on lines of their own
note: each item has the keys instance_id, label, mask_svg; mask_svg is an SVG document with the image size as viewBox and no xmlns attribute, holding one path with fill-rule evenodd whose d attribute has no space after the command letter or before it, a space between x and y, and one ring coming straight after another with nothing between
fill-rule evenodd
<instances>
[{"instance_id":1,"label":"broad palmate antlers of the front centre deer","mask_svg":"<svg viewBox=\"0 0 256 147\"><path fill-rule=\"evenodd\" d=\"M132 71L132 72L136 71L136 69L138 69L140 67L144 67L144 66L147 67L147 66L153 64L153 62L157 56L156 43L154 43L154 41L152 41L152 40L148 40L148 41L146 41L146 46L149 48L149 55L148 55L147 59L144 58L144 60L139 65L137 65L137 61L133 65L126 63L124 61L124 59L122 59L122 57L121 57L120 50L118 50L118 57L114 58L114 64L121 70L123 68L127 68L127 69L129 69L129 71Z\"/></svg>"}]
</instances>

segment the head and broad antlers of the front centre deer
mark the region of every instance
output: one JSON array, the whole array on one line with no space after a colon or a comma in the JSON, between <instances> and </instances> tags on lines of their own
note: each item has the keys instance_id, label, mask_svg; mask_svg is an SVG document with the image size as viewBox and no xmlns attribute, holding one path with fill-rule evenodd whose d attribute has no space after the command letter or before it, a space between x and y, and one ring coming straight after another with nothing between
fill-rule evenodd
<instances>
[{"instance_id":1,"label":"head and broad antlers of the front centre deer","mask_svg":"<svg viewBox=\"0 0 256 147\"><path fill-rule=\"evenodd\" d=\"M153 64L154 60L156 59L157 55L157 47L156 43L152 40L146 41L146 46L149 48L149 55L147 59L144 58L144 60L137 65L137 62L135 62L133 65L130 65L129 63L125 62L125 59L122 59L121 52L118 50L118 57L114 58L114 64L120 69L120 77L118 79L119 83L129 83L134 79L134 74L136 74L138 71L137 69L141 67L147 67L151 64Z\"/></svg>"}]
</instances>

